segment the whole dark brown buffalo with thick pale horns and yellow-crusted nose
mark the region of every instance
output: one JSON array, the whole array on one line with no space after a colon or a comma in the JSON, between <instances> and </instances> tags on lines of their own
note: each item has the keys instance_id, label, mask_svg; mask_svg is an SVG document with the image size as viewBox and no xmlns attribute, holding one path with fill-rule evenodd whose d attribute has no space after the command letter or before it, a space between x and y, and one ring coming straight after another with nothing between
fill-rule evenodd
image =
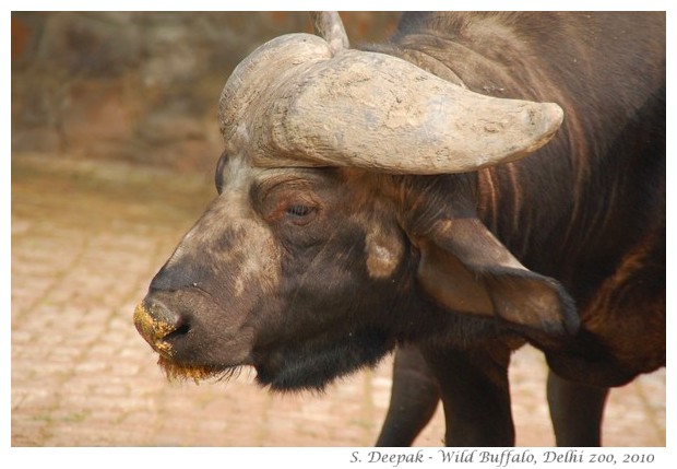
<instances>
[{"instance_id":1,"label":"whole dark brown buffalo with thick pale horns and yellow-crusted nose","mask_svg":"<svg viewBox=\"0 0 677 469\"><path fill-rule=\"evenodd\" d=\"M159 364L312 389L400 345L379 444L441 397L448 445L509 446L528 342L557 443L599 444L665 365L665 13L317 19L224 87L218 196L134 313Z\"/></svg>"}]
</instances>

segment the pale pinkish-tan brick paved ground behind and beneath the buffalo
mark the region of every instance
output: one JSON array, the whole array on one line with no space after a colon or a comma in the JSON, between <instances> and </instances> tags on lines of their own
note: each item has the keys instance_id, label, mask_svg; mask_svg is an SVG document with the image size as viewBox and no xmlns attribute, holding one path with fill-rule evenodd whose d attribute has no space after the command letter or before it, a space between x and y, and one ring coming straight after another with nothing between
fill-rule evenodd
<instances>
[{"instance_id":1,"label":"pale pinkish-tan brick paved ground behind and beneath the buffalo","mask_svg":"<svg viewBox=\"0 0 677 469\"><path fill-rule=\"evenodd\" d=\"M168 384L131 316L212 197L197 178L111 163L12 160L13 446L368 446L390 362L324 396L229 383ZM518 444L553 445L543 360L511 368ZM665 372L611 392L609 446L665 445ZM416 445L439 446L441 413Z\"/></svg>"}]
</instances>

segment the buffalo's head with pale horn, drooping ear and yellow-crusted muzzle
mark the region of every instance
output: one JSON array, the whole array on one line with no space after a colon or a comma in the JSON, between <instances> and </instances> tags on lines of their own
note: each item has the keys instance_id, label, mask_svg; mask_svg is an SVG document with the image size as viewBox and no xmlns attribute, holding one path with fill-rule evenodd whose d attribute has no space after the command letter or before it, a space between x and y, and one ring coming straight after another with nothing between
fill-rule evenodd
<instances>
[{"instance_id":1,"label":"buffalo's head with pale horn, drooping ear and yellow-crusted muzzle","mask_svg":"<svg viewBox=\"0 0 677 469\"><path fill-rule=\"evenodd\" d=\"M219 107L218 196L134 314L168 374L250 365L319 388L401 340L577 327L561 286L475 214L474 172L545 144L557 105L294 34L240 63Z\"/></svg>"}]
</instances>

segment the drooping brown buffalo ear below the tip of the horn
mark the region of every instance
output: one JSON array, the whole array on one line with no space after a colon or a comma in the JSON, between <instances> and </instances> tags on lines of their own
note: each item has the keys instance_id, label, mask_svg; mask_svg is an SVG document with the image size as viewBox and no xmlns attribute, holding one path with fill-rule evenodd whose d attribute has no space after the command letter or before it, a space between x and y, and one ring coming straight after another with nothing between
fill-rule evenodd
<instances>
[{"instance_id":1,"label":"drooping brown buffalo ear below the tip of the horn","mask_svg":"<svg viewBox=\"0 0 677 469\"><path fill-rule=\"evenodd\" d=\"M497 317L536 344L578 330L563 286L522 266L479 220L438 222L417 244L418 282L441 306Z\"/></svg>"}]
</instances>

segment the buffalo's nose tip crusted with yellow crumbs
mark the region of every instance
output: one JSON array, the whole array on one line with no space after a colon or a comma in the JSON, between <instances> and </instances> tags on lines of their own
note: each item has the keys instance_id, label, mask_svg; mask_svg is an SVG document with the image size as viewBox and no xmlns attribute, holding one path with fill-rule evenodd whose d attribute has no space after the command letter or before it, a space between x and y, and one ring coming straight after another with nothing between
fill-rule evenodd
<instances>
[{"instance_id":1,"label":"buffalo's nose tip crusted with yellow crumbs","mask_svg":"<svg viewBox=\"0 0 677 469\"><path fill-rule=\"evenodd\" d=\"M151 347L162 355L170 357L171 344L166 340L169 335L185 328L181 317L168 309L161 302L144 300L134 309L134 326Z\"/></svg>"}]
</instances>

